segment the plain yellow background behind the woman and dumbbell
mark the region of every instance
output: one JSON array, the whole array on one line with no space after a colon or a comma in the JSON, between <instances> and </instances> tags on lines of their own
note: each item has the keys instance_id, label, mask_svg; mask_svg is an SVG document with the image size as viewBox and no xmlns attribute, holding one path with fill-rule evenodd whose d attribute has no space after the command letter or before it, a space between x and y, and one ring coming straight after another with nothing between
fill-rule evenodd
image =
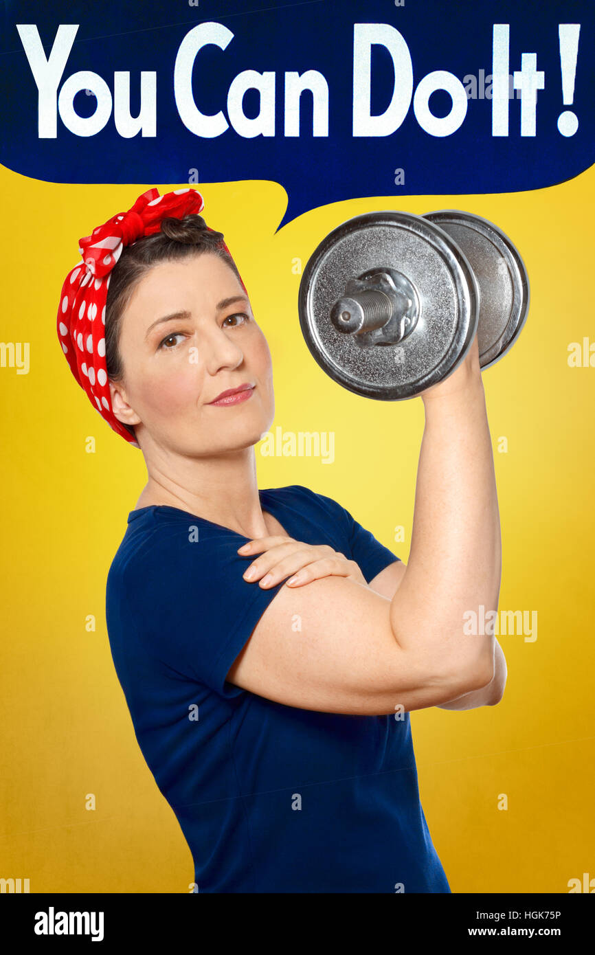
<instances>
[{"instance_id":1,"label":"plain yellow background behind the woman and dumbbell","mask_svg":"<svg viewBox=\"0 0 595 955\"><path fill-rule=\"evenodd\" d=\"M0 369L0 876L29 878L31 892L187 892L193 881L176 817L138 749L105 627L105 579L144 461L75 384L55 332L78 238L145 188L183 184L65 185L0 168L1 337L31 343L29 374ZM499 609L537 610L538 638L500 637L508 683L497 707L411 714L422 806L457 893L565 893L568 880L595 878L595 369L567 365L568 344L594 334L594 186L592 167L526 193L335 202L274 235L287 202L279 184L198 185L269 343L271 430L335 435L331 464L261 456L258 445L259 486L300 483L337 499L405 561L422 403L365 399L318 367L299 327L294 260L306 265L358 213L448 207L498 223L527 266L526 326L483 381L502 525ZM88 435L95 454L85 452ZM393 539L400 524L404 543ZM85 629L88 614L96 632Z\"/></svg>"}]
</instances>

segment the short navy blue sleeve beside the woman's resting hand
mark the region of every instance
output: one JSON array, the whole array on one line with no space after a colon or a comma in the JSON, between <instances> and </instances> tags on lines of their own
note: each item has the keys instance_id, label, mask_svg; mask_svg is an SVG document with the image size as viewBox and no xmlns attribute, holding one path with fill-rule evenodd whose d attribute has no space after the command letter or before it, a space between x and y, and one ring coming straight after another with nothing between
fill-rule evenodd
<instances>
[{"instance_id":1,"label":"short navy blue sleeve beside the woman's resting hand","mask_svg":"<svg viewBox=\"0 0 595 955\"><path fill-rule=\"evenodd\" d=\"M244 581L254 555L238 554L242 543L223 528L197 528L190 516L155 535L125 575L140 650L224 697L244 692L226 682L227 672L285 583Z\"/></svg>"}]
</instances>

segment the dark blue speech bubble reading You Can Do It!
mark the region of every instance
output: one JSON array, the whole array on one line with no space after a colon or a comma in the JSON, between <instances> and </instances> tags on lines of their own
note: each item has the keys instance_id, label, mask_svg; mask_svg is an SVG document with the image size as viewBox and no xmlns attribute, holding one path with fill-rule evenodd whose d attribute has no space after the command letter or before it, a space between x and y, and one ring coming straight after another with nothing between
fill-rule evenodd
<instances>
[{"instance_id":1,"label":"dark blue speech bubble reading You Can Do It!","mask_svg":"<svg viewBox=\"0 0 595 955\"><path fill-rule=\"evenodd\" d=\"M53 182L274 180L281 228L594 160L590 3L258 6L6 3L0 161Z\"/></svg>"}]
</instances>

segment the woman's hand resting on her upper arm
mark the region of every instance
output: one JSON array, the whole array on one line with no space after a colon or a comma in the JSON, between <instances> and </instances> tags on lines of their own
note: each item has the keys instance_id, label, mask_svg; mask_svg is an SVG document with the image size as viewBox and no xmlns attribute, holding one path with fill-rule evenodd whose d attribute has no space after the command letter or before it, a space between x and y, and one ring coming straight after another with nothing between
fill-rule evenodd
<instances>
[{"instance_id":1,"label":"woman's hand resting on her upper arm","mask_svg":"<svg viewBox=\"0 0 595 955\"><path fill-rule=\"evenodd\" d=\"M244 571L244 580L261 587L279 584L289 575L287 586L301 586L321 577L347 577L356 584L368 586L355 561L333 550L329 544L310 544L288 537L264 537L248 541L238 547L238 553L250 557L263 551L263 556L252 561ZM265 575L265 576L263 576Z\"/></svg>"}]
</instances>

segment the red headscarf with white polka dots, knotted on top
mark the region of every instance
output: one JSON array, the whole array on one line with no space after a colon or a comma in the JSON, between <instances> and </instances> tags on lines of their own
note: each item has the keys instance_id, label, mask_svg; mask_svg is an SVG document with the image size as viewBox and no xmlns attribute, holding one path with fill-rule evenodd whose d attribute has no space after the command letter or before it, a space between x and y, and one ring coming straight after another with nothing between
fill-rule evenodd
<instances>
[{"instance_id":1,"label":"red headscarf with white polka dots, knotted on top","mask_svg":"<svg viewBox=\"0 0 595 955\"><path fill-rule=\"evenodd\" d=\"M175 189L164 196L159 196L157 189L148 189L127 212L97 225L90 236L78 240L81 262L74 265L62 286L57 332L70 370L94 408L135 448L138 442L112 410L105 364L105 303L110 272L125 245L159 232L161 220L170 216L182 219L202 212L203 206L196 189ZM224 242L221 247L229 254ZM245 291L243 282L242 286Z\"/></svg>"}]
</instances>

